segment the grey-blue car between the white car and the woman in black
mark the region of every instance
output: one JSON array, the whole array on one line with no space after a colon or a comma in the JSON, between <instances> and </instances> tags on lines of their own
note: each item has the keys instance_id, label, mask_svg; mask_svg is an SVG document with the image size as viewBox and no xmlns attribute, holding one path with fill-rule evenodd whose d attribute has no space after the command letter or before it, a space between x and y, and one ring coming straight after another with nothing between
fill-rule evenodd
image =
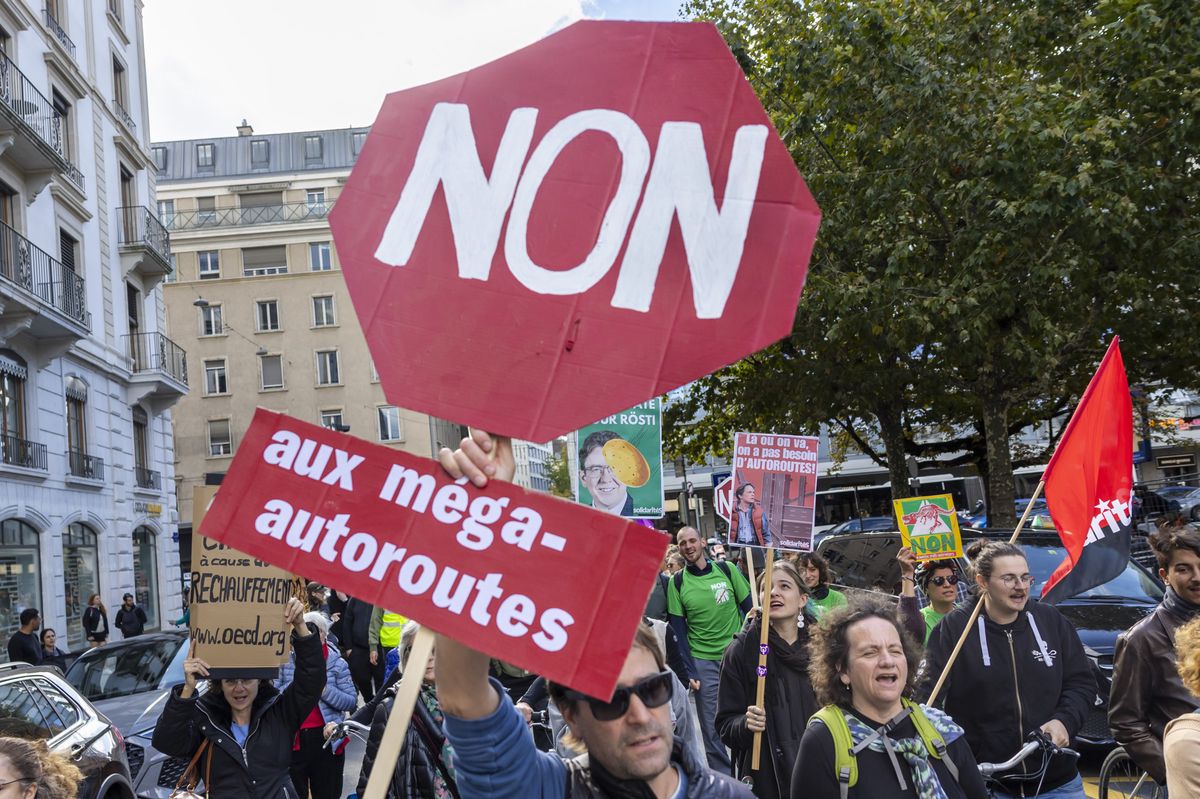
<instances>
[{"instance_id":1,"label":"grey-blue car between the white car and the woman in black","mask_svg":"<svg viewBox=\"0 0 1200 799\"><path fill-rule=\"evenodd\" d=\"M150 745L170 689L184 683L187 633L151 632L89 649L67 669L67 680L125 735L133 789L166 799L187 768Z\"/></svg>"}]
</instances>

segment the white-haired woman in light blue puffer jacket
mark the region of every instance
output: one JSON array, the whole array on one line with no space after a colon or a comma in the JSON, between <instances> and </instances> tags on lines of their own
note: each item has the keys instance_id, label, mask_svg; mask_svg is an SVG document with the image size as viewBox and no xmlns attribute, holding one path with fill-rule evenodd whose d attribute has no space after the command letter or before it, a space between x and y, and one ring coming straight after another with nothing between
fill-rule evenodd
<instances>
[{"instance_id":1,"label":"white-haired woman in light blue puffer jacket","mask_svg":"<svg viewBox=\"0 0 1200 799\"><path fill-rule=\"evenodd\" d=\"M346 751L325 746L322 732L325 725L342 721L347 710L358 704L354 680L350 679L350 667L342 660L336 647L330 647L329 619L317 611L304 614L308 629L320 636L320 645L325 654L325 690L320 702L308 717L300 725L292 750L292 783L301 797L312 799L338 799L342 794L342 771L346 767ZM280 669L275 686L281 691L292 683L295 672L295 653Z\"/></svg>"}]
</instances>

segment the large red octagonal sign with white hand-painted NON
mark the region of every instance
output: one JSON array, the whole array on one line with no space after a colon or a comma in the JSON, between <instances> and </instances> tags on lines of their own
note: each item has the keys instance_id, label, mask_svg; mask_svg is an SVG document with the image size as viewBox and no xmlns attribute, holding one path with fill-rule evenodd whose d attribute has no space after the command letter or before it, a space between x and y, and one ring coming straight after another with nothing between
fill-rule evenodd
<instances>
[{"instance_id":1,"label":"large red octagonal sign with white hand-painted NON","mask_svg":"<svg viewBox=\"0 0 1200 799\"><path fill-rule=\"evenodd\" d=\"M389 95L332 211L389 400L539 441L787 335L818 222L707 23Z\"/></svg>"}]
</instances>

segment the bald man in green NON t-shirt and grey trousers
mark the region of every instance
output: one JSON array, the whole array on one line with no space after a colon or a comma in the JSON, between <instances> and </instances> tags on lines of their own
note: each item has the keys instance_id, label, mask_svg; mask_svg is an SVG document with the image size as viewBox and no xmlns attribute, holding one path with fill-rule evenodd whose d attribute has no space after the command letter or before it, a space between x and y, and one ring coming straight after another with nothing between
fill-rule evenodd
<instances>
[{"instance_id":1,"label":"bald man in green NON t-shirt and grey trousers","mask_svg":"<svg viewBox=\"0 0 1200 799\"><path fill-rule=\"evenodd\" d=\"M686 565L667 582L667 620L696 692L708 768L730 774L730 753L716 734L716 689L725 648L742 629L752 605L750 583L736 565L708 559L696 528L679 528L676 543Z\"/></svg>"}]
</instances>

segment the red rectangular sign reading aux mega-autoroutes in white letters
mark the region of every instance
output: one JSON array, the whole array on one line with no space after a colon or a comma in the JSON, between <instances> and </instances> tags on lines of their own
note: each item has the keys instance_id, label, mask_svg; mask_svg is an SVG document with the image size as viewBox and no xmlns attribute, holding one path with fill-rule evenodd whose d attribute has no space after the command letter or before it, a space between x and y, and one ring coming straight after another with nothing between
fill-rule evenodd
<instances>
[{"instance_id":1,"label":"red rectangular sign reading aux mega-autoroutes in white letters","mask_svg":"<svg viewBox=\"0 0 1200 799\"><path fill-rule=\"evenodd\" d=\"M200 530L611 696L667 536L262 408Z\"/></svg>"}]
</instances>

